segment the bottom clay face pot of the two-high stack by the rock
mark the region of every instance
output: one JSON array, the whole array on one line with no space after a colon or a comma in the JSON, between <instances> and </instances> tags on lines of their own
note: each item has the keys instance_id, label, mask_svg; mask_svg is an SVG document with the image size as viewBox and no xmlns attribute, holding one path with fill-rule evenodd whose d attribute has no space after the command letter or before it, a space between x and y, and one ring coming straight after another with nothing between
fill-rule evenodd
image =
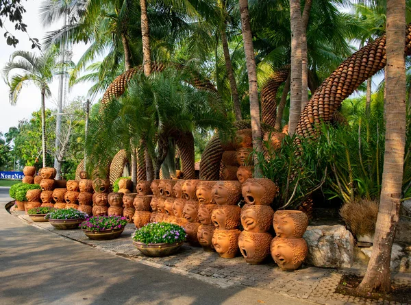
<instances>
[{"instance_id":1,"label":"bottom clay face pot of the two-high stack by the rock","mask_svg":"<svg viewBox=\"0 0 411 305\"><path fill-rule=\"evenodd\" d=\"M275 237L271 242L271 256L278 267L293 271L306 259L308 247L304 239L282 239Z\"/></svg>"}]
</instances>

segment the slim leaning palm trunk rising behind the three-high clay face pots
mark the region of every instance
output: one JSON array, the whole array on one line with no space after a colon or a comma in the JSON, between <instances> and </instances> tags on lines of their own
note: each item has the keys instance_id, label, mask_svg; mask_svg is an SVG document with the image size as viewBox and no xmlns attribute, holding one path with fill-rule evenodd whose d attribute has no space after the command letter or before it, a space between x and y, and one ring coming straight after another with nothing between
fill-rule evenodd
<instances>
[{"instance_id":1,"label":"slim leaning palm trunk rising behind the three-high clay face pots","mask_svg":"<svg viewBox=\"0 0 411 305\"><path fill-rule=\"evenodd\" d=\"M262 151L260 104L258 103L257 71L256 59L254 58L253 34L251 33L248 0L239 0L241 14L241 32L244 41L245 62L249 79L250 116L251 130L253 136L253 149L256 152ZM254 163L257 164L257 154L253 154ZM260 167L254 167L254 177L261 178Z\"/></svg>"}]
</instances>

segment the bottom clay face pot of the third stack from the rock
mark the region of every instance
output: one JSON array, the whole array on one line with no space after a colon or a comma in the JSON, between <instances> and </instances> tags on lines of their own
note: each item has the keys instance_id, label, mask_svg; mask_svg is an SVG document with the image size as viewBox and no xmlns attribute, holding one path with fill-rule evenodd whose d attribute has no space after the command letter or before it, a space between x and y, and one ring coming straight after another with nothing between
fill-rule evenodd
<instances>
[{"instance_id":1,"label":"bottom clay face pot of the third stack from the rock","mask_svg":"<svg viewBox=\"0 0 411 305\"><path fill-rule=\"evenodd\" d=\"M240 230L215 229L212 234L212 245L222 258L235 258L238 253L238 236Z\"/></svg>"}]
</instances>

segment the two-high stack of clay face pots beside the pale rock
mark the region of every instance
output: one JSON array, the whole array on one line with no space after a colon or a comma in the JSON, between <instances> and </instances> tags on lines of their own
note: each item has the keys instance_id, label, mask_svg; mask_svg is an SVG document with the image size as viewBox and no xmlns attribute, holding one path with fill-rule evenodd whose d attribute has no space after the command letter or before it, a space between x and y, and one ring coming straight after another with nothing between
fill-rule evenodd
<instances>
[{"instance_id":1,"label":"two-high stack of clay face pots beside the pale rock","mask_svg":"<svg viewBox=\"0 0 411 305\"><path fill-rule=\"evenodd\" d=\"M278 267L293 271L307 257L308 247L303 234L308 227L308 217L299 210L277 210L273 226L276 236L271 241L271 256Z\"/></svg>"}]
</instances>

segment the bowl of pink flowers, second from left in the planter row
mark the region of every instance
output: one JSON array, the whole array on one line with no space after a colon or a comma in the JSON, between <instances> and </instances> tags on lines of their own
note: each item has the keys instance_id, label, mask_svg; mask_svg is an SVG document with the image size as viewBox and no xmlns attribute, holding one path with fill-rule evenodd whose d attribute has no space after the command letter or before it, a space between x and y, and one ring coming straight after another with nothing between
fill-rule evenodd
<instances>
[{"instance_id":1,"label":"bowl of pink flowers, second from left in the planter row","mask_svg":"<svg viewBox=\"0 0 411 305\"><path fill-rule=\"evenodd\" d=\"M86 219L88 215L84 212L80 212L75 208L68 209L56 209L53 212L47 213L46 219L49 219L49 223L56 229L77 229L79 224Z\"/></svg>"}]
</instances>

